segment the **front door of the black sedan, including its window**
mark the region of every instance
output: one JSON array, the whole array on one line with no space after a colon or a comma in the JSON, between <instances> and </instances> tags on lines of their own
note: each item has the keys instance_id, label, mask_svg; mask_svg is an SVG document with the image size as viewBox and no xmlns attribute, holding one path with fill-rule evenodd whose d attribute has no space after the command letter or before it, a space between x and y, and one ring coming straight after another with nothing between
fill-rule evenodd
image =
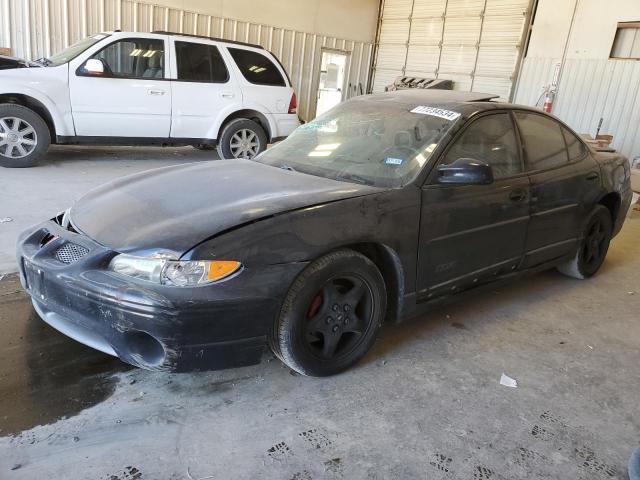
<instances>
[{"instance_id":1,"label":"front door of the black sedan, including its window","mask_svg":"<svg viewBox=\"0 0 640 480\"><path fill-rule=\"evenodd\" d=\"M472 158L492 167L488 185L438 182L438 167ZM418 301L456 293L518 268L529 223L530 184L512 115L463 128L422 187Z\"/></svg>"}]
</instances>

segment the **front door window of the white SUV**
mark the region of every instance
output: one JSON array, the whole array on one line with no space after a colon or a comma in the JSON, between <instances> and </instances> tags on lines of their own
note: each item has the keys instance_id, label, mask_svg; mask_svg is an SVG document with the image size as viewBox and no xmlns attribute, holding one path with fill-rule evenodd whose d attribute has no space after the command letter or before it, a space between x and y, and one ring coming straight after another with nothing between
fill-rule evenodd
<instances>
[{"instance_id":1,"label":"front door window of the white SUV","mask_svg":"<svg viewBox=\"0 0 640 480\"><path fill-rule=\"evenodd\" d=\"M126 38L107 45L91 58L102 61L103 77L164 78L164 40Z\"/></svg>"}]
</instances>

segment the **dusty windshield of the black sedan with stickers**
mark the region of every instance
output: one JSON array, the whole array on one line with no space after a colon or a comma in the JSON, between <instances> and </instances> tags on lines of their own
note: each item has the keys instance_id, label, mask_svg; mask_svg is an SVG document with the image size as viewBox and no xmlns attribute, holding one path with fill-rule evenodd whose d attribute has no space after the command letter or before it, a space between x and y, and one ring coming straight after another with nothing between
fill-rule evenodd
<instances>
[{"instance_id":1,"label":"dusty windshield of the black sedan with stickers","mask_svg":"<svg viewBox=\"0 0 640 480\"><path fill-rule=\"evenodd\" d=\"M425 113L429 107L413 113L415 107L384 97L350 100L298 127L255 161L334 180L402 187L459 117Z\"/></svg>"}]
</instances>

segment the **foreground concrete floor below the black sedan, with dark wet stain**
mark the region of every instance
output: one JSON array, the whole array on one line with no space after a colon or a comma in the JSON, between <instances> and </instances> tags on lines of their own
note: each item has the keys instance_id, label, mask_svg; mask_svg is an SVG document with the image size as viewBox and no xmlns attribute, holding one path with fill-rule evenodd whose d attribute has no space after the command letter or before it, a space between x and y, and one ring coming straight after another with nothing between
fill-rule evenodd
<instances>
[{"instance_id":1,"label":"foreground concrete floor below the black sedan, with dark wet stain","mask_svg":"<svg viewBox=\"0 0 640 480\"><path fill-rule=\"evenodd\" d=\"M556 272L386 326L342 375L130 369L0 282L0 478L609 479L640 446L640 213ZM499 384L502 373L518 388Z\"/></svg>"}]
</instances>

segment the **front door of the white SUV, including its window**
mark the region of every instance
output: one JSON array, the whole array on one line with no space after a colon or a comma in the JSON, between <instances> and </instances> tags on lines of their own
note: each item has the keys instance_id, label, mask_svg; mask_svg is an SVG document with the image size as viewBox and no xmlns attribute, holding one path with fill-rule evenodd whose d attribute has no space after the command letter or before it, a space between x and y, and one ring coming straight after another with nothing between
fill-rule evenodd
<instances>
[{"instance_id":1,"label":"front door of the white SUV, including its window","mask_svg":"<svg viewBox=\"0 0 640 480\"><path fill-rule=\"evenodd\" d=\"M69 87L76 135L167 138L171 86L166 80L166 36L117 39L90 58L102 74L71 66Z\"/></svg>"}]
</instances>

